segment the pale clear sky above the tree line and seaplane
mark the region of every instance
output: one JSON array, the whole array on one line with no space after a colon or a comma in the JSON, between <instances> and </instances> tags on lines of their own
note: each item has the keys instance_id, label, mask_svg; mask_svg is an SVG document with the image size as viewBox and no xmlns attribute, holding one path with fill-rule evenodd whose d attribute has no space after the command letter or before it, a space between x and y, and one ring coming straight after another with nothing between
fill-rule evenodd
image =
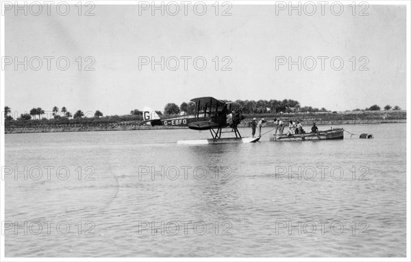
<instances>
[{"instance_id":1,"label":"pale clear sky above the tree line and seaplane","mask_svg":"<svg viewBox=\"0 0 411 262\"><path fill-rule=\"evenodd\" d=\"M187 15L180 6L175 16L166 12L175 12L171 5L164 15L138 5L96 5L94 16L84 15L89 8L81 16L73 5L65 16L55 6L50 15L46 7L38 16L5 11L5 105L13 112L66 106L125 115L202 96L406 109L406 5L370 5L366 16L359 15L364 6L353 15L348 5L339 16L329 5L323 15L319 5L315 12L306 6L314 13L301 9L301 16L275 5L220 5L219 15L211 5L203 15L202 6L197 14L188 6ZM231 15L221 15L227 8Z\"/></svg>"}]
</instances>

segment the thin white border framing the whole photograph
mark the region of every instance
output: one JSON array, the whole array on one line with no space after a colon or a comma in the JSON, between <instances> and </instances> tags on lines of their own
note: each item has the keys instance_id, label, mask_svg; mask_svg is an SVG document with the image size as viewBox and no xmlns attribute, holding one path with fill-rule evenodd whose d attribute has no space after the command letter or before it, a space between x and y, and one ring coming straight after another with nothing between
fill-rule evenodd
<instances>
[{"instance_id":1,"label":"thin white border framing the whole photograph","mask_svg":"<svg viewBox=\"0 0 411 262\"><path fill-rule=\"evenodd\" d=\"M3 14L3 8L5 2L12 2L12 3L34 3L38 1L2 1L1 3L1 12ZM79 2L86 3L92 2L95 5L138 5L138 3L146 2L147 1L54 1L55 3L66 2L69 4L77 4ZM148 1L149 3L156 3L160 4L170 3L175 1ZM223 3L226 1L191 1L192 3L196 2L203 2L208 5L214 4L216 2ZM227 1L232 3L233 5L273 5L276 2L286 2L286 3L307 3L313 1ZM315 2L315 1L314 1ZM318 2L318 1L317 1ZM411 32L411 24L410 24L410 6L411 1L328 1L329 3L340 2L344 5L349 5L353 2L356 4L360 2L369 3L369 5L406 5L406 12L407 12L407 21L406 21L406 39L407 39L407 64L406 64L406 73L407 73L407 80L406 80L406 88L407 88L407 199L406 199L406 215L407 215L407 239L406 239L406 257L398 258L398 257L372 257L372 258L361 258L361 257L295 257L295 258L288 258L288 257L275 257L275 258L266 258L266 257L247 257L247 258L235 258L235 257L216 257L216 258L197 258L197 257L170 257L170 258L146 258L146 257L51 257L51 258L44 258L44 257L5 257L5 236L0 234L0 261L411 261L410 259L410 249L411 249L411 226L410 226L410 163L411 163L411 132L410 132L410 112L411 112L411 93L410 93L410 32ZM0 57L5 56L5 15L0 15ZM3 65L2 65L3 66ZM4 68L4 67L2 67ZM3 108L5 106L5 71L0 71L0 85L1 85L1 92L0 92L0 106ZM5 166L5 126L3 124L0 125L0 166ZM5 221L5 181L0 179L0 221Z\"/></svg>"}]
</instances>

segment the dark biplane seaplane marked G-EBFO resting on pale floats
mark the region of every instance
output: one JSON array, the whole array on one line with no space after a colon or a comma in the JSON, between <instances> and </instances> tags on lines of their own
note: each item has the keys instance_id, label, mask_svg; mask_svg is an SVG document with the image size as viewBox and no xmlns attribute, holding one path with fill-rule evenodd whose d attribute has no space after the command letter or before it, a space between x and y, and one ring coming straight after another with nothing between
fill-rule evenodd
<instances>
[{"instance_id":1,"label":"dark biplane seaplane marked G-EBFO resting on pale floats","mask_svg":"<svg viewBox=\"0 0 411 262\"><path fill-rule=\"evenodd\" d=\"M195 104L192 114L166 119L161 119L154 110L145 107L142 111L143 121L139 125L186 126L192 130L210 130L212 139L179 140L179 145L255 143L260 140L260 136L241 136L237 126L244 116L232 110L232 102L223 102L214 97L197 97L190 101ZM232 137L223 137L225 134L232 134Z\"/></svg>"}]
</instances>

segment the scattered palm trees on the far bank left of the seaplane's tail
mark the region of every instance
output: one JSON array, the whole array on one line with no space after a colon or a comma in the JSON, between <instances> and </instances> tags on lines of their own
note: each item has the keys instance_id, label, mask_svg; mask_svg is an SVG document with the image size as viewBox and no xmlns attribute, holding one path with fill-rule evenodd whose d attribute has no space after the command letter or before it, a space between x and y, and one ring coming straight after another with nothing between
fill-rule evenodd
<instances>
[{"instance_id":1,"label":"scattered palm trees on the far bank left of the seaplane's tail","mask_svg":"<svg viewBox=\"0 0 411 262\"><path fill-rule=\"evenodd\" d=\"M54 119L60 119L62 117L66 117L67 119L70 119L71 117L73 117L74 119L77 119L77 118L84 117L84 112L82 110L77 110L75 114L72 115L71 112L69 112L65 106L63 106L61 110L57 106L53 106L53 109L51 111L53 112L52 115ZM10 108L9 106L5 106L4 107L5 119L7 120L13 119L13 117L11 116L11 113L12 113L12 108ZM32 110L30 110L28 114L27 113L21 114L20 119L25 119L25 120L36 119L37 116L38 116L38 119L41 119L42 115L45 115L45 110L43 110L40 107L32 108ZM96 110L94 115L95 117L102 117L103 112L101 112L100 110Z\"/></svg>"}]
</instances>

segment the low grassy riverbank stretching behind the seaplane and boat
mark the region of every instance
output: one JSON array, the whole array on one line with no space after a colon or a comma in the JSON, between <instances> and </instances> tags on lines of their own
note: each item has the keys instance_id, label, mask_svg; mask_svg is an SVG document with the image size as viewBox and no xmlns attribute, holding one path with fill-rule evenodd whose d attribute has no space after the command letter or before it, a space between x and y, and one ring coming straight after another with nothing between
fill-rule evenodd
<instances>
[{"instance_id":1,"label":"low grassy riverbank stretching behind the seaplane and boat","mask_svg":"<svg viewBox=\"0 0 411 262\"><path fill-rule=\"evenodd\" d=\"M369 125L375 123L406 123L406 111L365 111L365 112L340 112L340 113L299 113L299 114L255 114L245 115L245 119L239 127L249 127L253 117L258 120L265 118L282 119L286 122L289 119L301 121L303 126L311 126L316 123L318 126L345 126L345 125ZM45 132L95 132L95 131L122 131L122 130L155 130L155 129L177 129L186 127L173 126L139 126L140 120L131 121L102 121L91 119L71 119L59 121L55 119L47 121L5 121L5 134L21 133L45 133ZM273 123L267 123L273 126Z\"/></svg>"}]
</instances>

